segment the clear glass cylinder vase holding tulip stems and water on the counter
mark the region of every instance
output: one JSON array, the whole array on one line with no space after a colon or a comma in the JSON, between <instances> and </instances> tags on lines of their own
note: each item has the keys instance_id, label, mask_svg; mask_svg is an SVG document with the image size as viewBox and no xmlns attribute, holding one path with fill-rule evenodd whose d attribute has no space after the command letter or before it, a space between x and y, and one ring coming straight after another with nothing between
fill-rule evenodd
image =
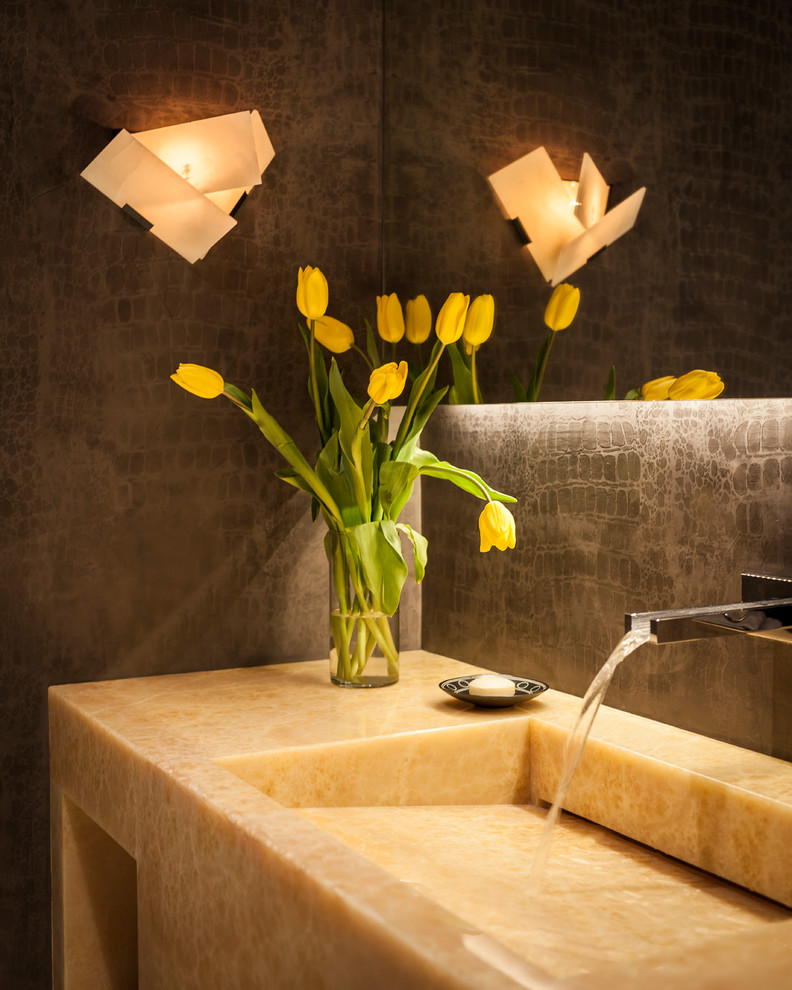
<instances>
[{"instance_id":1,"label":"clear glass cylinder vase holding tulip stems and water on the counter","mask_svg":"<svg viewBox=\"0 0 792 990\"><path fill-rule=\"evenodd\" d=\"M340 687L385 687L399 679L399 611L373 603L343 537L331 534L330 680Z\"/></svg>"}]
</instances>

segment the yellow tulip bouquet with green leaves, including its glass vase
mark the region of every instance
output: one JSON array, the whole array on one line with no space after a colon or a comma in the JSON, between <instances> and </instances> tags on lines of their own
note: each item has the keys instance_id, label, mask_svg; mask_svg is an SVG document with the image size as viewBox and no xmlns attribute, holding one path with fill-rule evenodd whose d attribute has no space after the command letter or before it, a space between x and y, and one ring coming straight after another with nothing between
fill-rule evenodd
<instances>
[{"instance_id":1,"label":"yellow tulip bouquet with green leaves, including its glass vase","mask_svg":"<svg viewBox=\"0 0 792 990\"><path fill-rule=\"evenodd\" d=\"M407 364L383 364L369 326L366 351L357 348L352 330L327 315L328 295L327 280L318 268L300 269L297 308L307 321L301 330L321 445L313 465L255 391L247 395L200 365L181 364L171 377L202 398L225 396L253 420L287 462L278 477L309 495L314 519L321 514L327 525L325 551L337 602L330 615L331 680L354 686L388 684L399 675L389 618L398 609L408 574L401 538L412 545L416 581L422 580L427 560L426 539L398 522L416 480L421 475L441 478L485 501L479 517L482 552L493 546L514 547L514 518L503 503L515 499L495 491L473 471L454 467L418 446L421 431L446 393L446 388L435 388L437 366L446 347L462 335L469 297L451 293L440 310L429 363L413 381L391 438L391 407L405 389ZM378 300L378 315L382 300L387 306L387 299ZM334 356L328 370L323 348L333 354L360 351L371 369L366 400L359 402L350 394ZM370 663L372 658L376 664Z\"/></svg>"}]
</instances>

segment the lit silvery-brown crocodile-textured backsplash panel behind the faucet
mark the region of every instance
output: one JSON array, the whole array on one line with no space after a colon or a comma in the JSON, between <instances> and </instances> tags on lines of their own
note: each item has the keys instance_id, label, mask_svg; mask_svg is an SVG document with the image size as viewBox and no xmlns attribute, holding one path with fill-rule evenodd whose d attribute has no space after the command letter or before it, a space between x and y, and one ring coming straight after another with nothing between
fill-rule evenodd
<instances>
[{"instance_id":1,"label":"lit silvery-brown crocodile-textured backsplash panel behind the faucet","mask_svg":"<svg viewBox=\"0 0 792 990\"><path fill-rule=\"evenodd\" d=\"M481 504L427 479L423 645L582 694L626 612L739 601L792 574L792 402L442 408L425 445L519 501L517 547L478 552ZM645 645L606 703L792 759L792 648Z\"/></svg>"}]
</instances>

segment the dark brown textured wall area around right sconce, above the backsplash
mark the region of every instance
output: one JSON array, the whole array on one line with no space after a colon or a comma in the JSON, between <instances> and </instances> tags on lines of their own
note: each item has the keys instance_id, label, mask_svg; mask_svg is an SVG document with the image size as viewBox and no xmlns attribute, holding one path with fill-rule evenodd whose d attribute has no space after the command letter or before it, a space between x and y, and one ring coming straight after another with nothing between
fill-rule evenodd
<instances>
[{"instance_id":1,"label":"dark brown textured wall area around right sconce, above the backsplash","mask_svg":"<svg viewBox=\"0 0 792 990\"><path fill-rule=\"evenodd\" d=\"M491 292L489 402L525 384L550 288L487 177L588 152L635 228L569 277L579 315L542 397L601 399L691 368L790 394L792 6L784 0L456 0L386 6L385 271L392 291Z\"/></svg>"}]
</instances>

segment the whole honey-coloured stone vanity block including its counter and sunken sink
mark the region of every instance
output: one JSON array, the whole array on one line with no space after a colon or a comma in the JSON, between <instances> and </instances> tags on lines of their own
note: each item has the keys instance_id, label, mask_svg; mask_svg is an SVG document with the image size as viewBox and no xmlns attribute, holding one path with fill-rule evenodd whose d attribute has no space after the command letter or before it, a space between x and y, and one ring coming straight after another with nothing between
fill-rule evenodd
<instances>
[{"instance_id":1,"label":"whole honey-coloured stone vanity block including its counter and sunken sink","mask_svg":"<svg viewBox=\"0 0 792 990\"><path fill-rule=\"evenodd\" d=\"M56 986L788 987L792 766L603 708L537 892L579 699L439 690L472 669L52 689Z\"/></svg>"}]
</instances>

